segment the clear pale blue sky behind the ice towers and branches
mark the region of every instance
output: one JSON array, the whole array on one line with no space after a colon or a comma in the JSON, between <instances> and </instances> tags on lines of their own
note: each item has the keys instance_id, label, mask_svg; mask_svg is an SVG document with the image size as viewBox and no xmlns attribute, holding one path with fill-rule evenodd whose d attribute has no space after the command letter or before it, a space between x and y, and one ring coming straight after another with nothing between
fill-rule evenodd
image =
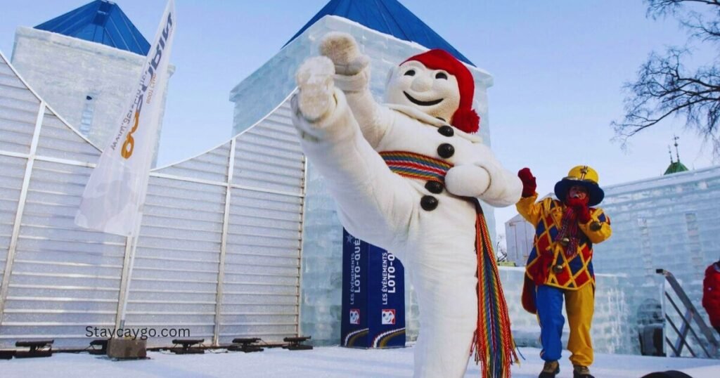
<instances>
[{"instance_id":1,"label":"clear pale blue sky behind the ice towers and branches","mask_svg":"<svg viewBox=\"0 0 720 378\"><path fill-rule=\"evenodd\" d=\"M0 50L10 58L15 28L32 27L89 0L0 0ZM117 0L151 39L165 0ZM326 0L176 0L177 35L163 120L159 165L184 160L228 140L230 89L262 66ZM675 19L645 17L639 0L401 0L426 24L495 78L490 88L492 148L513 171L529 166L538 192L575 165L587 163L601 186L660 176L667 145L680 136L688 168L712 164L682 120L653 127L628 151L611 142L622 114L621 86L633 80L652 50L681 45ZM705 55L703 55L703 53ZM698 51L700 59L714 53ZM498 210L500 222L514 208Z\"/></svg>"}]
</instances>

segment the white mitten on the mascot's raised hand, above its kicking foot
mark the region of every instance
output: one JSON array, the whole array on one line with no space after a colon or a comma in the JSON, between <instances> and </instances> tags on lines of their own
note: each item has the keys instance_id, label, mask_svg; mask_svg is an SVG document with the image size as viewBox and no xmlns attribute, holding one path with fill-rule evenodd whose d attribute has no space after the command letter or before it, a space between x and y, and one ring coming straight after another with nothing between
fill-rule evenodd
<instances>
[{"instance_id":1,"label":"white mitten on the mascot's raised hand, above its kicking foot","mask_svg":"<svg viewBox=\"0 0 720 378\"><path fill-rule=\"evenodd\" d=\"M320 41L320 54L335 64L338 75L353 76L365 68L370 59L360 53L355 38L348 33L329 32Z\"/></svg>"}]
</instances>

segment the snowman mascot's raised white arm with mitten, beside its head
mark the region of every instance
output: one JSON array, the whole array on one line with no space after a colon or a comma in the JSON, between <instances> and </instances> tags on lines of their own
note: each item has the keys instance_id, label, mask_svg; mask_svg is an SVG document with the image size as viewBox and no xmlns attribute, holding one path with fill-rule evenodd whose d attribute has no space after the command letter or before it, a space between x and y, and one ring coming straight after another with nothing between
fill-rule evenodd
<instances>
[{"instance_id":1,"label":"snowman mascot's raised white arm with mitten, beside its head","mask_svg":"<svg viewBox=\"0 0 720 378\"><path fill-rule=\"evenodd\" d=\"M360 53L352 35L330 32L320 42L320 54L335 65L335 86L343 91L364 138L376 147L392 120L391 110L370 92L370 59Z\"/></svg>"}]
</instances>

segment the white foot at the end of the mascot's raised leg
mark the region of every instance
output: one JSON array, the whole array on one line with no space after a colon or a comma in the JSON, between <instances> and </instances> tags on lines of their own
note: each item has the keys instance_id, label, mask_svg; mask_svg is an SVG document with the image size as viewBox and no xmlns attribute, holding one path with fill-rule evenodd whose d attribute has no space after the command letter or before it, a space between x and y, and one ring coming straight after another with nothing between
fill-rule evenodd
<instances>
[{"instance_id":1,"label":"white foot at the end of the mascot's raised leg","mask_svg":"<svg viewBox=\"0 0 720 378\"><path fill-rule=\"evenodd\" d=\"M324 56L308 58L297 69L297 107L305 120L316 122L335 108L334 75L333 62Z\"/></svg>"}]
</instances>

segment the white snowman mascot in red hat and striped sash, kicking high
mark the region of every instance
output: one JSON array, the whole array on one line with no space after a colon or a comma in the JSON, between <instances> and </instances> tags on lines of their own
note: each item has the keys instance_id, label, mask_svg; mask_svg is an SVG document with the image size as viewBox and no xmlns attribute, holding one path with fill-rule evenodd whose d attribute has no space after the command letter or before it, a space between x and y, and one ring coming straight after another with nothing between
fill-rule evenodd
<instances>
[{"instance_id":1,"label":"white snowman mascot in red hat and striped sash, kicking high","mask_svg":"<svg viewBox=\"0 0 720 378\"><path fill-rule=\"evenodd\" d=\"M514 343L477 198L515 204L522 184L472 134L472 73L429 50L392 69L378 104L351 35L326 35L320 53L296 73L294 126L343 226L408 269L420 306L414 376L462 377L474 349L483 377L509 377Z\"/></svg>"}]
</instances>

